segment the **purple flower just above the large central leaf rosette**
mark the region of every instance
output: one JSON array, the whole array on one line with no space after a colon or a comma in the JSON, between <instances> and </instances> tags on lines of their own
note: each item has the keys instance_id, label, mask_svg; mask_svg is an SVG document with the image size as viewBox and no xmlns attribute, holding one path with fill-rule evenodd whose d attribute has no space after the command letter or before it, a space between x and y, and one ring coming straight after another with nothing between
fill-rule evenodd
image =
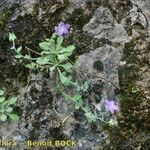
<instances>
[{"instance_id":1,"label":"purple flower just above the large central leaf rosette","mask_svg":"<svg viewBox=\"0 0 150 150\"><path fill-rule=\"evenodd\" d=\"M68 23L60 22L58 26L55 27L55 31L58 36L69 34L70 25Z\"/></svg>"}]
</instances>

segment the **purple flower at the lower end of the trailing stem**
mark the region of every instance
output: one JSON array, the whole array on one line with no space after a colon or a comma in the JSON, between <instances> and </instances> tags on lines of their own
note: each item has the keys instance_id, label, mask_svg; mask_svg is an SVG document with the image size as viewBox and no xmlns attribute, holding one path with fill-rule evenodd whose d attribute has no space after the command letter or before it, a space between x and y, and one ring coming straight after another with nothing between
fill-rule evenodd
<instances>
[{"instance_id":1,"label":"purple flower at the lower end of the trailing stem","mask_svg":"<svg viewBox=\"0 0 150 150\"><path fill-rule=\"evenodd\" d=\"M115 101L113 100L105 100L105 107L108 109L112 114L115 113L115 111L119 111L119 107L115 104Z\"/></svg>"}]
</instances>

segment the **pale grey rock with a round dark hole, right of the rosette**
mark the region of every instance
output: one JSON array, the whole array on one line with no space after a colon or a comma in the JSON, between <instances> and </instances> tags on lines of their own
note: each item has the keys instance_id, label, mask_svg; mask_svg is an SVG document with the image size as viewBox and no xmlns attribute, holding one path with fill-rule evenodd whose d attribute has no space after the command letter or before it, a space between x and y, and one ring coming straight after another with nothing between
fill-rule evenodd
<instances>
[{"instance_id":1,"label":"pale grey rock with a round dark hole, right of the rosette","mask_svg":"<svg viewBox=\"0 0 150 150\"><path fill-rule=\"evenodd\" d=\"M99 100L101 98L117 99L115 94L115 90L119 88L117 67L121 57L121 51L109 45L79 56L76 67L89 76L91 83L103 81L104 90L101 91L102 95Z\"/></svg>"}]
</instances>

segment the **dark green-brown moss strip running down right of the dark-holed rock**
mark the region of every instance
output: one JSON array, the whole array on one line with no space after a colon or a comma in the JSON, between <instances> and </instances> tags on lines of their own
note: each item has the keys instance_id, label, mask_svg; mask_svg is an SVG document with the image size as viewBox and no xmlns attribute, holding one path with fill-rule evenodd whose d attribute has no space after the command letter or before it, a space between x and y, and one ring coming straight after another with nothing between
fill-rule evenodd
<instances>
[{"instance_id":1,"label":"dark green-brown moss strip running down right of the dark-holed rock","mask_svg":"<svg viewBox=\"0 0 150 150\"><path fill-rule=\"evenodd\" d=\"M134 50L137 40L134 39L125 45L122 61L126 61L127 64L118 68L121 87L119 128L107 129L112 147L115 149L131 149L133 146L131 141L134 142L134 148L139 145L148 146L147 138L141 136L141 132L144 135L149 133L149 127L146 126L148 116L145 117L145 112L139 107L145 100L145 95L136 84L141 78L139 70L143 65L138 58L138 52Z\"/></svg>"}]
</instances>

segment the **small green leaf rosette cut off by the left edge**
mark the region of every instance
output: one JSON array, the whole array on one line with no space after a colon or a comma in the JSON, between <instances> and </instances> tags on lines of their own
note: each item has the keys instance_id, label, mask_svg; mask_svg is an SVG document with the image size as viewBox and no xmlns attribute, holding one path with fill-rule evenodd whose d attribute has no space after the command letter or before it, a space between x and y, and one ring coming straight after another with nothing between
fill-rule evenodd
<instances>
[{"instance_id":1,"label":"small green leaf rosette cut off by the left edge","mask_svg":"<svg viewBox=\"0 0 150 150\"><path fill-rule=\"evenodd\" d=\"M13 105L17 102L17 97L13 96L6 100L4 91L0 90L0 121L5 122L8 118L14 121L19 120L19 116L13 112Z\"/></svg>"}]
</instances>

